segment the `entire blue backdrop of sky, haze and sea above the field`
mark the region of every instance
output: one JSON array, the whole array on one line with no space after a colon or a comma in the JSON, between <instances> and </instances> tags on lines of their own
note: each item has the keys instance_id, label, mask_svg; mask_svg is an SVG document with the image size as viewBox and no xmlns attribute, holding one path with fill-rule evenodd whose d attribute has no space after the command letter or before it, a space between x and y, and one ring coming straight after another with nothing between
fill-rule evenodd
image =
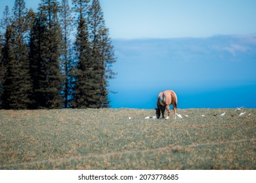
<instances>
[{"instance_id":1,"label":"entire blue backdrop of sky, haze and sea above the field","mask_svg":"<svg viewBox=\"0 0 256 183\"><path fill-rule=\"evenodd\" d=\"M25 2L36 10L40 1ZM0 1L0 18L5 5L11 9L14 0ZM255 0L100 5L117 57L113 108L154 108L167 89L177 92L178 108L256 108Z\"/></svg>"}]
</instances>

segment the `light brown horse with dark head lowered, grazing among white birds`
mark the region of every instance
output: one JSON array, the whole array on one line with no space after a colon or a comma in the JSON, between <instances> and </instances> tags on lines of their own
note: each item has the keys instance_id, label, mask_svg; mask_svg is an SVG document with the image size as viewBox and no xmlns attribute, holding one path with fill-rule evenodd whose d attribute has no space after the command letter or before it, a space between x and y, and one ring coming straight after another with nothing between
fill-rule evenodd
<instances>
[{"instance_id":1,"label":"light brown horse with dark head lowered, grazing among white birds","mask_svg":"<svg viewBox=\"0 0 256 183\"><path fill-rule=\"evenodd\" d=\"M160 92L158 94L158 101L156 103L158 107L156 108L156 118L159 119L161 115L162 115L162 118L165 118L164 113L165 113L165 107L166 107L168 111L168 117L167 117L168 119L171 114L170 105L173 105L173 111L176 119L177 103L178 103L178 98L176 93L173 92L173 90L166 90L165 92Z\"/></svg>"}]
</instances>

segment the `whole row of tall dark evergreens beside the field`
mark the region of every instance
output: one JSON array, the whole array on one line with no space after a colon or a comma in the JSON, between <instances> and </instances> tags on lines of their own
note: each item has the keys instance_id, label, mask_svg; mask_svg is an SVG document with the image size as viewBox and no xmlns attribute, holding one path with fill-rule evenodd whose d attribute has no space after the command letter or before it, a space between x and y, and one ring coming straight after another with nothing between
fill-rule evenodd
<instances>
[{"instance_id":1,"label":"whole row of tall dark evergreens beside the field","mask_svg":"<svg viewBox=\"0 0 256 183\"><path fill-rule=\"evenodd\" d=\"M72 39L74 35L74 39ZM0 32L0 108L106 108L114 47L98 0L16 0Z\"/></svg>"}]
</instances>

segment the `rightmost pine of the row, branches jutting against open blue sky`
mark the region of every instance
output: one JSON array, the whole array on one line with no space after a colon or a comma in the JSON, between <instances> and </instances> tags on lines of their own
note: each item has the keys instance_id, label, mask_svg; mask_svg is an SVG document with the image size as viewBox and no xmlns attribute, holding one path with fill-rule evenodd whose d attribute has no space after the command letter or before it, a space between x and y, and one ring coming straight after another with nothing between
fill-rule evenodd
<instances>
[{"instance_id":1,"label":"rightmost pine of the row, branches jutting against open blue sky","mask_svg":"<svg viewBox=\"0 0 256 183\"><path fill-rule=\"evenodd\" d=\"M109 107L108 79L114 78L116 75L111 69L112 63L116 62L116 58L98 0L93 0L89 10L89 29L95 68L94 78L95 82L98 83L96 86L97 94L95 95L95 99L98 101L96 107Z\"/></svg>"}]
</instances>

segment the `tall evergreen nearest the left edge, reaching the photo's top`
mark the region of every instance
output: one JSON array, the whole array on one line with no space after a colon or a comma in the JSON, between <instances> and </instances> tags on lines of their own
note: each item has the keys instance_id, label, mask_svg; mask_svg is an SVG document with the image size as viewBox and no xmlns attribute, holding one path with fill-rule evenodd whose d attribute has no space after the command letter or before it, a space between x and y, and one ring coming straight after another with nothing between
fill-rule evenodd
<instances>
[{"instance_id":1,"label":"tall evergreen nearest the left edge, reaching the photo's top","mask_svg":"<svg viewBox=\"0 0 256 183\"><path fill-rule=\"evenodd\" d=\"M7 73L4 83L3 107L26 109L30 105L32 90L28 46L25 42L28 27L26 24L27 8L24 0L16 0L12 9L11 25L7 27L5 40L5 61Z\"/></svg>"}]
</instances>

